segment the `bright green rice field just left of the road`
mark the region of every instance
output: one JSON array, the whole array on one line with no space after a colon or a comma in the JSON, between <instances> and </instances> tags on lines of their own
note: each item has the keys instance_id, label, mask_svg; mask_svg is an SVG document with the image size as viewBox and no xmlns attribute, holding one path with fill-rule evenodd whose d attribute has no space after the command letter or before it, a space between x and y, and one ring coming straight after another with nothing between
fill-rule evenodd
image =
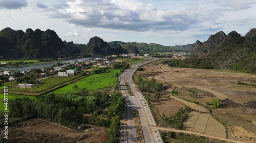
<instances>
[{"instance_id":1,"label":"bright green rice field just left of the road","mask_svg":"<svg viewBox=\"0 0 256 143\"><path fill-rule=\"evenodd\" d=\"M106 70L109 71L109 70ZM111 69L110 72L105 72L101 74L93 74L88 77L84 77L72 84L66 85L60 89L53 91L56 94L62 94L66 92L72 92L74 85L78 88L88 88L89 90L101 89L109 86L113 86L116 80L116 73L120 73L121 70Z\"/></svg>"}]
</instances>

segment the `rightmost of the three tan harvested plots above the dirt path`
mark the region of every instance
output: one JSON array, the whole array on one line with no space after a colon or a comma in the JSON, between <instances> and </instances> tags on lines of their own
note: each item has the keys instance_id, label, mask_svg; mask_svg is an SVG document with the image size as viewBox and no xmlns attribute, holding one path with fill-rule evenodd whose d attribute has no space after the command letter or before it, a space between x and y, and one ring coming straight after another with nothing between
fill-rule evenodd
<instances>
[{"instance_id":1,"label":"rightmost of the three tan harvested plots above the dirt path","mask_svg":"<svg viewBox=\"0 0 256 143\"><path fill-rule=\"evenodd\" d=\"M212 116L208 119L208 124L204 131L205 134L214 134L214 136L226 137L226 128L220 122L216 121Z\"/></svg>"}]
</instances>

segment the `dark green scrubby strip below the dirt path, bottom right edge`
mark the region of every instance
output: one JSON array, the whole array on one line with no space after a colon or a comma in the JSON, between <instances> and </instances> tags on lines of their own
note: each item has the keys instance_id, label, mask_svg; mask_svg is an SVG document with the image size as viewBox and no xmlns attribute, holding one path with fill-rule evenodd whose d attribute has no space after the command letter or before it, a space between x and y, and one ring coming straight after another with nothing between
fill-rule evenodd
<instances>
[{"instance_id":1,"label":"dark green scrubby strip below the dirt path, bottom right edge","mask_svg":"<svg viewBox=\"0 0 256 143\"><path fill-rule=\"evenodd\" d=\"M163 132L160 131L163 142L190 142L190 143L219 143L226 142L218 139L209 139L204 136L189 135L185 133L175 133L175 132Z\"/></svg>"}]
</instances>

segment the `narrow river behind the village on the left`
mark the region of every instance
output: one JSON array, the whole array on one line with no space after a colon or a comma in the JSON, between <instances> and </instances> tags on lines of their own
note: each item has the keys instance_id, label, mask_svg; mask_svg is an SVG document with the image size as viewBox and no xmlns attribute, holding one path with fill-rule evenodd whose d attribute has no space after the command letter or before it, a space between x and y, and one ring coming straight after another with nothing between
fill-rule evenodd
<instances>
[{"instance_id":1,"label":"narrow river behind the village on the left","mask_svg":"<svg viewBox=\"0 0 256 143\"><path fill-rule=\"evenodd\" d=\"M23 67L12 67L12 68L1 68L0 70L18 70L20 72L22 71L28 71L30 69L39 69L39 68L43 68L43 67L51 67L52 65L56 64L56 63L72 63L75 61L84 61L84 60L90 60L93 59L92 57L90 58L81 58L81 59L73 59L73 60L67 60L67 61L53 61L51 63L48 64L38 64L38 65L31 65L31 66L23 66ZM95 58L94 58L95 59Z\"/></svg>"}]
</instances>

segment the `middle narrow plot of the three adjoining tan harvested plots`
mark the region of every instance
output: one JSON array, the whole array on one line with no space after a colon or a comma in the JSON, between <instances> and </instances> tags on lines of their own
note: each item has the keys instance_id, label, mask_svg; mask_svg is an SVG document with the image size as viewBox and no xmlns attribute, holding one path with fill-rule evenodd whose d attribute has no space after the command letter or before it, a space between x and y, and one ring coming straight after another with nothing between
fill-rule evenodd
<instances>
[{"instance_id":1,"label":"middle narrow plot of the three adjoining tan harvested plots","mask_svg":"<svg viewBox=\"0 0 256 143\"><path fill-rule=\"evenodd\" d=\"M204 133L209 117L208 113L201 113L192 131Z\"/></svg>"}]
</instances>

